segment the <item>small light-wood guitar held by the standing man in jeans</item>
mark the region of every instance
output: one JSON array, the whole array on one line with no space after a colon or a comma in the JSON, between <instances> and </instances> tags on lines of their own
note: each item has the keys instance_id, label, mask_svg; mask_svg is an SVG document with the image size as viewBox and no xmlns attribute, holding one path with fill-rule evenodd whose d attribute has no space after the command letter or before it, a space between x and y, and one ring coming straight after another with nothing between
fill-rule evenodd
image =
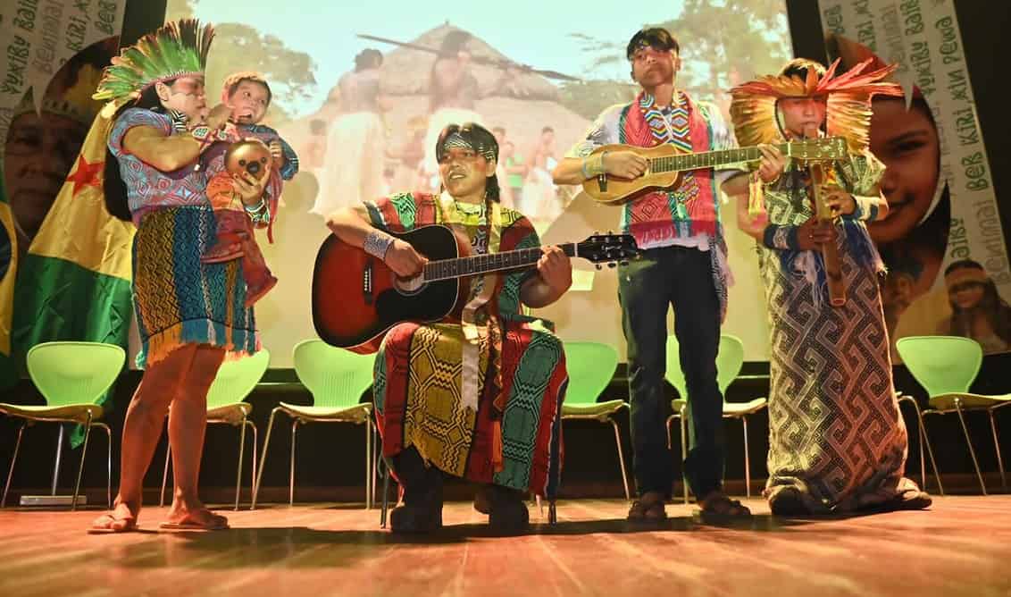
<instances>
[{"instance_id":1,"label":"small light-wood guitar held by the standing man in jeans","mask_svg":"<svg viewBox=\"0 0 1011 597\"><path fill-rule=\"evenodd\" d=\"M846 140L841 137L792 141L775 147L783 152L783 155L795 160L824 161L841 160L846 157ZM692 154L684 153L669 143L649 148L606 145L596 148L590 155L622 151L632 151L646 158L649 162L646 172L634 179L601 174L583 181L582 189L594 200L621 205L654 190L677 188L681 185L684 173L691 170L755 162L761 159L761 152L757 147Z\"/></svg>"}]
</instances>

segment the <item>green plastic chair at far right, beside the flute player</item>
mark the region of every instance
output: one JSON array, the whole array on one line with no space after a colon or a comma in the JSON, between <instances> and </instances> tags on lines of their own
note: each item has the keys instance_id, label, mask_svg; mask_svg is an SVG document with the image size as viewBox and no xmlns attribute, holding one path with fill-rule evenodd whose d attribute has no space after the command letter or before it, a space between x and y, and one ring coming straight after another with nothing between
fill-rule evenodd
<instances>
[{"instance_id":1,"label":"green plastic chair at far right, beside the flute player","mask_svg":"<svg viewBox=\"0 0 1011 597\"><path fill-rule=\"evenodd\" d=\"M946 415L955 413L961 423L961 431L966 434L969 453L973 456L976 476L980 481L983 495L987 495L987 485L983 481L983 472L976 458L976 449L966 427L964 411L986 411L990 416L990 429L994 434L994 447L997 450L997 465L1001 473L1001 486L1007 489L1004 474L1004 461L1001 458L1001 444L997 438L997 422L994 411L1011 404L1011 394L986 396L970 394L973 385L983 364L983 348L976 340L960 336L907 336L896 342L899 356L902 357L909 372L927 391L930 408L920 416L920 429L924 429L923 415ZM921 435L922 437L922 435ZM933 453L931 453L931 458ZM934 464L934 475L937 466ZM938 485L940 478L938 477Z\"/></svg>"}]
</instances>

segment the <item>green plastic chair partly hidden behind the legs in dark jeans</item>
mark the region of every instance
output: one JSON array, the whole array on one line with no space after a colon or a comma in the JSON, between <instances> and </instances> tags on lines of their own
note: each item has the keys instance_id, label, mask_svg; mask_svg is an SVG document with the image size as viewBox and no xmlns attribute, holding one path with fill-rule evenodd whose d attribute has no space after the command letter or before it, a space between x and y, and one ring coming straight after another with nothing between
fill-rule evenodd
<instances>
[{"instance_id":1,"label":"green plastic chair partly hidden behind the legs in dark jeans","mask_svg":"<svg viewBox=\"0 0 1011 597\"><path fill-rule=\"evenodd\" d=\"M676 398L670 402L670 408L674 411L667 417L667 447L670 447L670 423L678 419L681 428L681 454L687 453L687 429L685 420L687 418L687 382L684 380L684 372L681 371L680 345L673 335L667 337L667 370L665 377L671 386L677 390ZM720 394L726 396L727 388L737 378L744 365L744 343L737 336L730 334L720 335L720 348L716 356L716 381L720 388ZM748 453L748 415L757 413L765 408L768 400L756 398L749 402L723 402L723 417L725 419L740 419L744 429L744 493L751 497L751 457ZM687 483L684 487L684 503L688 503Z\"/></svg>"}]
</instances>

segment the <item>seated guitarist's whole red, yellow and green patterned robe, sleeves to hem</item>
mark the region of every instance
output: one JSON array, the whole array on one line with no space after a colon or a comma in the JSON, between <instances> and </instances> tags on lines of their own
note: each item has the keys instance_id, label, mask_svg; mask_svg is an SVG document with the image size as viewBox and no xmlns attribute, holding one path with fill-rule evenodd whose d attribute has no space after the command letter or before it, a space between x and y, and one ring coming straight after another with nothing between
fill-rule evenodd
<instances>
[{"instance_id":1,"label":"seated guitarist's whole red, yellow and green patterned robe, sleeves to hem","mask_svg":"<svg viewBox=\"0 0 1011 597\"><path fill-rule=\"evenodd\" d=\"M406 232L443 224L438 197L401 193L366 202L373 226ZM487 250L480 234L483 207L454 210L475 253ZM501 208L499 251L537 247L530 222ZM383 455L415 446L427 462L476 483L493 483L554 498L562 463L561 406L568 377L561 341L543 322L520 313L520 286L531 270L500 274L487 304L501 325L501 466L495 470L494 383L487 382L490 349L479 345L480 390L477 411L463 407L463 332L459 323L404 323L383 339L375 362L376 418ZM476 284L475 284L476 285Z\"/></svg>"}]
</instances>

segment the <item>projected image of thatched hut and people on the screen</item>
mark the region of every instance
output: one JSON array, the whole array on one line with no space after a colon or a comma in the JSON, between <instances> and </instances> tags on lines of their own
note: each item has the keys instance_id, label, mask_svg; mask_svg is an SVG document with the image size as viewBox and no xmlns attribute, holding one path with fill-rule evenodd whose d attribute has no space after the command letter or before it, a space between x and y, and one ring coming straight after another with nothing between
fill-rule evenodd
<instances>
[{"instance_id":1,"label":"projected image of thatched hut and people on the screen","mask_svg":"<svg viewBox=\"0 0 1011 597\"><path fill-rule=\"evenodd\" d=\"M732 6L683 0L611 10L607 19L589 10L585 3L530 0L439 6L170 0L166 20L195 16L217 26L208 101L227 75L262 73L273 92L264 123L299 157L300 171L282 194L276 242L264 243L280 281L258 304L257 316L275 360L313 335L309 280L328 234L324 216L391 192L438 192L434 148L444 125L474 121L491 130L499 143L502 203L526 215L542 241L571 242L619 225L617 208L591 205L580 187L555 185L551 170L604 108L635 97L625 47L636 30L667 27L681 46L677 86L717 103L725 115L726 90L776 72L792 57L783 0ZM744 272L751 280L744 284L753 294L746 302L756 304L757 276L746 273L755 268L752 243L742 237L735 250L735 239L729 242L731 259L741 261L737 279ZM590 271L544 317L564 338L578 313L613 311L593 339L624 345L613 280L592 280L586 263L574 266ZM746 311L742 306L742 317ZM573 326L573 334L586 333Z\"/></svg>"}]
</instances>

